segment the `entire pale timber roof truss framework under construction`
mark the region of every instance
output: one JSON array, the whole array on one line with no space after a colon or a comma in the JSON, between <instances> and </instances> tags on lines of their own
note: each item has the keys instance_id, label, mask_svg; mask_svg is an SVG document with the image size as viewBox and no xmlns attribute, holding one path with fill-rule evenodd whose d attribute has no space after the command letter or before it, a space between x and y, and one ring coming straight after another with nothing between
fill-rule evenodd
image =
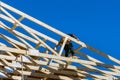
<instances>
[{"instance_id":1,"label":"entire pale timber roof truss framework under construction","mask_svg":"<svg viewBox=\"0 0 120 80\"><path fill-rule=\"evenodd\" d=\"M0 6L0 78L109 80L120 76L120 60L3 2L0 2ZM49 33L55 37L49 36ZM63 37L65 39L60 47L58 42ZM74 58L64 57L63 49L67 40L75 45ZM86 50L114 64L94 58Z\"/></svg>"}]
</instances>

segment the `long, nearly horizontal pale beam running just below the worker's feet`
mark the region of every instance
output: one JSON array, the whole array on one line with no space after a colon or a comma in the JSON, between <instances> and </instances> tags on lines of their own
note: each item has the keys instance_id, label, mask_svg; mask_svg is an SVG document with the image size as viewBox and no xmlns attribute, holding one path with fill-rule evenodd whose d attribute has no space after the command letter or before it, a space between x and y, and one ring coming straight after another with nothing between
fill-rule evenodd
<instances>
[{"instance_id":1,"label":"long, nearly horizontal pale beam running just below the worker's feet","mask_svg":"<svg viewBox=\"0 0 120 80\"><path fill-rule=\"evenodd\" d=\"M0 50L15 52L18 54L26 54L26 50L20 50L20 49L9 48L9 47L4 47L4 46L0 46ZM39 56L39 57L44 57L44 58L52 58L52 59L57 59L57 60L65 60L65 61L76 62L76 63L86 64L86 65L93 65L93 66L97 66L97 65L98 66L102 66L102 65L107 66L107 64L95 63L95 62L86 61L86 60L71 59L71 58L66 58L66 57L59 57L59 56L44 54L44 53L37 53L37 55L34 55L32 53L28 53L27 55ZM114 67L117 69L120 69L119 66L114 66Z\"/></svg>"}]
</instances>

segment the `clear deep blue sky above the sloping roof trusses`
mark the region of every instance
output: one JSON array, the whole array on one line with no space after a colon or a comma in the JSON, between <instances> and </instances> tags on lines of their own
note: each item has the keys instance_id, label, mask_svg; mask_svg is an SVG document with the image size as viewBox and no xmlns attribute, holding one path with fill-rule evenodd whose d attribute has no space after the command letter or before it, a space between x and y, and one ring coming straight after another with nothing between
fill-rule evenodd
<instances>
[{"instance_id":1,"label":"clear deep blue sky above the sloping roof trusses","mask_svg":"<svg viewBox=\"0 0 120 80\"><path fill-rule=\"evenodd\" d=\"M120 59L119 0L2 0Z\"/></svg>"}]
</instances>

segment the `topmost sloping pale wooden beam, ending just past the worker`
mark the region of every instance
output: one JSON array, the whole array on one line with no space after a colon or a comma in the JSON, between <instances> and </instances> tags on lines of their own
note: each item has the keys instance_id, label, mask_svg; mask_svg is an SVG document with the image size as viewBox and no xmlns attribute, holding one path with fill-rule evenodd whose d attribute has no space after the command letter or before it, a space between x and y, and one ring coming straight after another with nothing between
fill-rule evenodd
<instances>
[{"instance_id":1,"label":"topmost sloping pale wooden beam, ending just past the worker","mask_svg":"<svg viewBox=\"0 0 120 80\"><path fill-rule=\"evenodd\" d=\"M51 30L52 32L54 32L54 33L56 33L56 34L61 35L62 37L64 37L64 36L68 37L70 40L72 40L72 41L74 41L75 43L81 45L82 47L86 47L86 44L83 43L82 41L78 41L78 40L74 39L73 37L70 37L70 36L64 34L63 32L61 32L61 31L59 31L59 30L57 30L57 29L55 29L55 28L52 28L52 26L49 26L49 25L43 23L42 21L39 21L39 20L37 20L37 19L35 19L35 18L33 18L33 17L31 17L31 16L29 16L29 15L27 15L27 14L25 14L25 13L23 13L23 12L15 9L15 8L13 8L13 7L7 5L7 4L5 4L5 3L3 3L3 2L1 2L1 5L2 5L4 8L7 8L7 9L9 9L9 10L11 10L11 11L13 11L13 12L15 12L15 13L21 15L21 16L24 16L25 18L27 18L27 19L29 19L29 20L37 23L37 24L40 25L40 26L43 26L44 28L46 28L46 29L48 29L48 30Z\"/></svg>"}]
</instances>

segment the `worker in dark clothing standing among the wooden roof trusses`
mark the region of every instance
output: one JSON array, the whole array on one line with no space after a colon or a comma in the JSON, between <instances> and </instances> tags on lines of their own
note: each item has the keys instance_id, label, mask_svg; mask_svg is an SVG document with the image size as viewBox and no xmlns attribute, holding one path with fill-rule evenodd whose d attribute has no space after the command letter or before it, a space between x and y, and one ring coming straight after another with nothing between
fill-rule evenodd
<instances>
[{"instance_id":1,"label":"worker in dark clothing standing among the wooden roof trusses","mask_svg":"<svg viewBox=\"0 0 120 80\"><path fill-rule=\"evenodd\" d=\"M77 39L77 40L79 40L75 35L73 35L73 34L68 34L69 36L71 36L71 37L73 37L73 38L75 38L75 39ZM64 41L64 38L62 38L61 40L60 40L60 42L59 42L59 44L60 45L62 45L62 43L63 43L63 41ZM70 41L70 40L68 40L67 42L66 42L66 44L65 44L65 47L64 47L64 50L65 50L65 57L68 57L68 56L74 56L74 50L73 50L73 44L72 44L72 42Z\"/></svg>"}]
</instances>

